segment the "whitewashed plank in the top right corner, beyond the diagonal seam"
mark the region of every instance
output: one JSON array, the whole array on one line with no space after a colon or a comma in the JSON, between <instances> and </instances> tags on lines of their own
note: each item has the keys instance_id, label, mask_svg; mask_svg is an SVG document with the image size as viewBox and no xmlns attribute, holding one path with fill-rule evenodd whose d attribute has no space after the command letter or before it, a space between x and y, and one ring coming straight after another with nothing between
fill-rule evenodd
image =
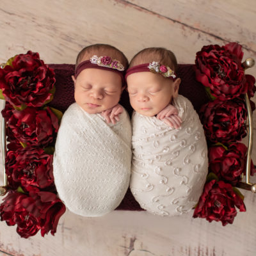
<instances>
[{"instance_id":1,"label":"whitewashed plank in the top right corner, beyond the diagonal seam","mask_svg":"<svg viewBox=\"0 0 256 256\"><path fill-rule=\"evenodd\" d=\"M166 19L195 29L198 33L215 36L223 42L240 42L252 54L256 52L256 31L252 22L255 19L255 1L241 3L239 0L177 0L161 1L158 4L154 0L122 2L134 8L157 13Z\"/></svg>"}]
</instances>

